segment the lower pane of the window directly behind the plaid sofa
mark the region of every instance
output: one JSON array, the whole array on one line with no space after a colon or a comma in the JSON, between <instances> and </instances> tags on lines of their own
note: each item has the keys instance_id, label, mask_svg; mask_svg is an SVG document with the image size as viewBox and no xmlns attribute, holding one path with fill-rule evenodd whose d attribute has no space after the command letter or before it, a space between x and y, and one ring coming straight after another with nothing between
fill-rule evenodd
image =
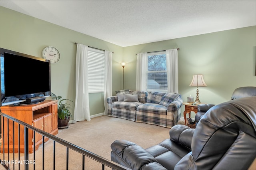
<instances>
[{"instance_id":1,"label":"lower pane of the window directly behind the plaid sofa","mask_svg":"<svg viewBox=\"0 0 256 170\"><path fill-rule=\"evenodd\" d=\"M148 73L147 89L167 90L167 73Z\"/></svg>"}]
</instances>

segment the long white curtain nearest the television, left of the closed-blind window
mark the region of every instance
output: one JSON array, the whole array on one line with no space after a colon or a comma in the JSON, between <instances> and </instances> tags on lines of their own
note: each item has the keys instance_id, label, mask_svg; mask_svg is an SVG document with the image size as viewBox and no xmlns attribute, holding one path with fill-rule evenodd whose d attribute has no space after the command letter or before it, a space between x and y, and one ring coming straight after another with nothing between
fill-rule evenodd
<instances>
[{"instance_id":1,"label":"long white curtain nearest the television, left of the closed-blind window","mask_svg":"<svg viewBox=\"0 0 256 170\"><path fill-rule=\"evenodd\" d=\"M88 46L77 44L76 49L76 101L74 109L74 123L90 121L89 93L88 93Z\"/></svg>"}]
</instances>

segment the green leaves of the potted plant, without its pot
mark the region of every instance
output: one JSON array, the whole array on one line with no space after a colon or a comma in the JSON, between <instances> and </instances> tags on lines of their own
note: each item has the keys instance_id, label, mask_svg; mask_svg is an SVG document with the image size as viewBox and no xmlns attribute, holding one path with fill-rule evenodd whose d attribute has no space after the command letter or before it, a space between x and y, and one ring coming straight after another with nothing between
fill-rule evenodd
<instances>
[{"instance_id":1,"label":"green leaves of the potted plant, without its pot","mask_svg":"<svg viewBox=\"0 0 256 170\"><path fill-rule=\"evenodd\" d=\"M52 93L52 95L54 96L54 98L56 100L59 101L59 105L58 105L58 117L60 119L67 119L68 117L72 117L71 113L70 113L70 109L71 105L69 103L64 103L65 101L71 101L70 99L61 99L62 96L56 96L54 93Z\"/></svg>"}]
</instances>

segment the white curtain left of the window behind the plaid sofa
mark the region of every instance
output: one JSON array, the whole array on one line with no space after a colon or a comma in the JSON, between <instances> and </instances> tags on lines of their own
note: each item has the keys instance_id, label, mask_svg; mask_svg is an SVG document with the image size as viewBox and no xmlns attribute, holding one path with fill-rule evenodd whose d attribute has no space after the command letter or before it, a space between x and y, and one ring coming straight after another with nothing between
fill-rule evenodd
<instances>
[{"instance_id":1,"label":"white curtain left of the window behind the plaid sofa","mask_svg":"<svg viewBox=\"0 0 256 170\"><path fill-rule=\"evenodd\" d=\"M147 67L147 53L138 53L136 66L136 90L138 91L146 90Z\"/></svg>"}]
</instances>

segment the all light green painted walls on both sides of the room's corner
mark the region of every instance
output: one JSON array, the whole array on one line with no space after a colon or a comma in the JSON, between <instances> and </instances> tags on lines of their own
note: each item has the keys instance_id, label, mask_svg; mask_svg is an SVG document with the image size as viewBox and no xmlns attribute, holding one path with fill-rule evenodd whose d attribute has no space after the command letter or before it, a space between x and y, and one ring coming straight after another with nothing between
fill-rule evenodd
<instances>
[{"instance_id":1,"label":"all light green painted walls on both sides of the room's corner","mask_svg":"<svg viewBox=\"0 0 256 170\"><path fill-rule=\"evenodd\" d=\"M120 47L2 6L0 21L0 47L38 57L46 46L54 46L60 51L60 61L51 65L52 92L65 99L75 99L74 42L114 52L113 95L122 89L121 62L126 62L124 89L134 90L136 53L174 48L180 48L179 93L184 101L189 95L196 97L196 87L189 86L194 74L203 74L208 85L199 87L200 101L204 103L222 103L230 100L235 88L256 86L256 26ZM102 93L89 95L90 115L104 112L103 98Z\"/></svg>"}]
</instances>

